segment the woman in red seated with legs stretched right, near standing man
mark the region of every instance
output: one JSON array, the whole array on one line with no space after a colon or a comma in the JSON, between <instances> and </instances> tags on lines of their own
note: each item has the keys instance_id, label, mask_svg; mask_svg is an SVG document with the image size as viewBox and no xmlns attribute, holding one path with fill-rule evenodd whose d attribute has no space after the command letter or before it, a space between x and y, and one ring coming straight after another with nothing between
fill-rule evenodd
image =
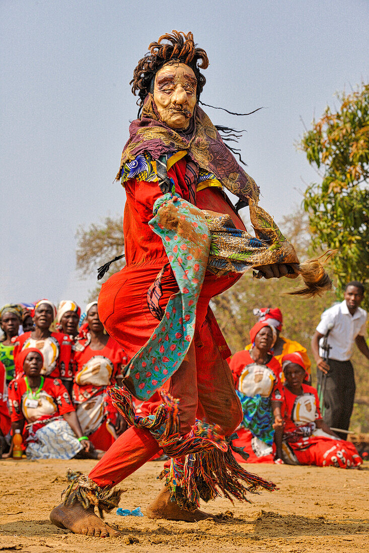
<instances>
[{"instance_id":1,"label":"woman in red seated with legs stretched right, near standing man","mask_svg":"<svg viewBox=\"0 0 369 553\"><path fill-rule=\"evenodd\" d=\"M288 465L355 468L362 464L356 447L340 440L320 414L317 391L304 384L305 364L299 353L282 358L284 434L282 458Z\"/></svg>"}]
</instances>

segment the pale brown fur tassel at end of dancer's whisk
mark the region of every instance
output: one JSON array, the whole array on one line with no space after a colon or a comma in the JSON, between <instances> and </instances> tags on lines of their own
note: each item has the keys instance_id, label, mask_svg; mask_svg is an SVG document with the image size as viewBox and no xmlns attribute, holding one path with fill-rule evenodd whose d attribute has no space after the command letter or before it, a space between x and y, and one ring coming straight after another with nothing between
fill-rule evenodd
<instances>
[{"instance_id":1,"label":"pale brown fur tassel at end of dancer's whisk","mask_svg":"<svg viewBox=\"0 0 369 553\"><path fill-rule=\"evenodd\" d=\"M332 280L324 269L324 265L329 259L337 253L337 250L327 250L324 254L314 259L307 259L300 264L299 275L304 281L305 287L298 288L287 294L290 296L305 296L314 298L321 296L327 290L332 288Z\"/></svg>"}]
</instances>

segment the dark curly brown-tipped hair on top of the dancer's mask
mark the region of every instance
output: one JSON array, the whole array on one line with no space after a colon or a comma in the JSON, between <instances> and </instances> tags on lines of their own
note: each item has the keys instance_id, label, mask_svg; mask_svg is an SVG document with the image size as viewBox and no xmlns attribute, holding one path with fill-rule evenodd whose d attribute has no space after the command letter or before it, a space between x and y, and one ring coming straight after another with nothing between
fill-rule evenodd
<instances>
[{"instance_id":1,"label":"dark curly brown-tipped hair on top of the dancer's mask","mask_svg":"<svg viewBox=\"0 0 369 553\"><path fill-rule=\"evenodd\" d=\"M130 81L132 93L139 96L137 100L137 105L140 106L139 113L147 94L153 91L153 81L157 71L163 65L175 62L191 67L197 79L196 96L199 100L206 83L200 69L207 69L209 60L206 51L196 46L191 31L186 34L176 30L172 30L172 34L166 33L160 36L157 42L148 45L149 51L137 64L134 78Z\"/></svg>"}]
</instances>

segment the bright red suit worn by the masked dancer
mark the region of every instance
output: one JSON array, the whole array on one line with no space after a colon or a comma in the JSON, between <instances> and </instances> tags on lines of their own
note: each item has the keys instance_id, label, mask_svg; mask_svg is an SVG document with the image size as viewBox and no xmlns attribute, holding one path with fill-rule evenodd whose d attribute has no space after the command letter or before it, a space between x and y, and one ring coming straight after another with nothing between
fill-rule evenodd
<instances>
[{"instance_id":1,"label":"bright red suit worn by the masked dancer","mask_svg":"<svg viewBox=\"0 0 369 553\"><path fill-rule=\"evenodd\" d=\"M174 157L174 156L173 156ZM189 187L184 179L186 158L168 169L176 194L189 200ZM124 210L126 267L102 285L99 316L105 328L131 358L147 342L158 321L148 309L146 294L168 258L160 237L148 227L154 202L162 196L157 182L130 179L125 184L127 200ZM192 191L193 192L193 191ZM196 193L196 191L195 191ZM228 213L235 227L244 230L223 191L207 187L197 191L196 205L220 213ZM209 309L209 300L221 294L240 278L239 274L221 277L206 273L196 313L196 362L192 369L180 367L163 387L173 397L181 398L180 432L186 434L198 418L219 424L224 434L232 434L238 426L242 410L233 387L228 363L229 349ZM168 271L162 280L161 307L178 291L173 274ZM197 370L198 368L198 370ZM159 394L143 403L143 413L153 413L162 403ZM157 453L160 447L149 431L131 427L106 452L90 472L98 486L119 483Z\"/></svg>"}]
</instances>

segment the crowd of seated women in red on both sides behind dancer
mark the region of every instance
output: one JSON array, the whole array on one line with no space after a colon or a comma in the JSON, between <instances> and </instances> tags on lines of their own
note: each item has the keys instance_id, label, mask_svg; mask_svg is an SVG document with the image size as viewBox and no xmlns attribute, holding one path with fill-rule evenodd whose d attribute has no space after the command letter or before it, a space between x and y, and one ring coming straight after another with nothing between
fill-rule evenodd
<instances>
[{"instance_id":1,"label":"crowd of seated women in red on both sides behind dancer","mask_svg":"<svg viewBox=\"0 0 369 553\"><path fill-rule=\"evenodd\" d=\"M281 335L279 309L257 309L250 343L229 359L243 420L239 462L358 467L355 446L322 420L306 348ZM126 430L106 390L121 385L127 356L107 335L98 302L42 299L0 310L0 454L22 432L30 459L100 458ZM139 408L139 405L137 405Z\"/></svg>"}]
</instances>

